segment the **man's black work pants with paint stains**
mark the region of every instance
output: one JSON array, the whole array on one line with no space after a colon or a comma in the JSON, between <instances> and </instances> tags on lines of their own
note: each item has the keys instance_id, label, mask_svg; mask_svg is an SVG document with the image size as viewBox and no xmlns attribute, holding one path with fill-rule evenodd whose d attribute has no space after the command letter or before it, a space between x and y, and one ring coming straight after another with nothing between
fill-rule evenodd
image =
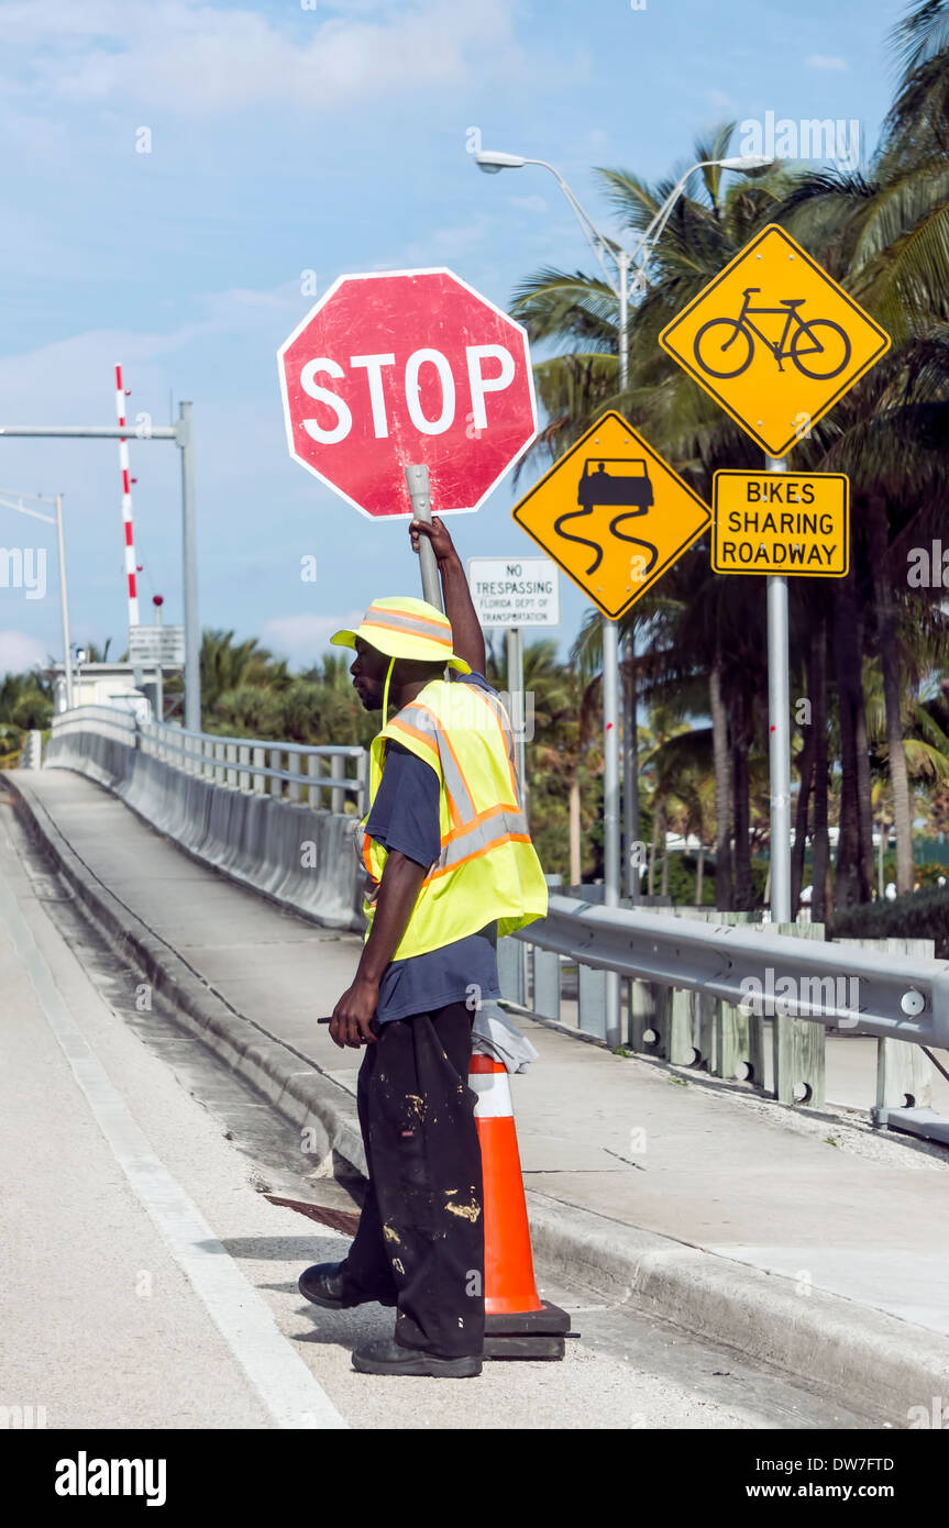
<instances>
[{"instance_id":1,"label":"man's black work pants with paint stains","mask_svg":"<svg viewBox=\"0 0 949 1528\"><path fill-rule=\"evenodd\" d=\"M370 1186L345 1274L397 1305L396 1342L446 1358L484 1342L481 1148L463 1002L381 1024L356 1102Z\"/></svg>"}]
</instances>

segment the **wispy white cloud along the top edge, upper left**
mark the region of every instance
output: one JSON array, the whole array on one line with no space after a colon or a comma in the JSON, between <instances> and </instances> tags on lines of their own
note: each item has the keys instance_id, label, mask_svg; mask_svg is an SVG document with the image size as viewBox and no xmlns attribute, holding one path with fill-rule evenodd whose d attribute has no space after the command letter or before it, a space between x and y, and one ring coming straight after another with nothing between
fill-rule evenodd
<instances>
[{"instance_id":1,"label":"wispy white cloud along the top edge, upper left","mask_svg":"<svg viewBox=\"0 0 949 1528\"><path fill-rule=\"evenodd\" d=\"M379 18L287 8L280 24L193 0L21 3L0 6L0 49L21 95L38 86L110 107L133 99L145 112L264 101L326 112L406 89L457 89L486 55L495 76L526 66L509 0L417 0Z\"/></svg>"}]
</instances>

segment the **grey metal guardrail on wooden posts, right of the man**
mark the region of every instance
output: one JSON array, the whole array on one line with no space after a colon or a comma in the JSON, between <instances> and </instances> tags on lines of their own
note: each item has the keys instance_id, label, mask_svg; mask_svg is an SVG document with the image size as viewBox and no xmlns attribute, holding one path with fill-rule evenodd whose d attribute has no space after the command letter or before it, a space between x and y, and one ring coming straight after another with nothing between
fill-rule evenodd
<instances>
[{"instance_id":1,"label":"grey metal guardrail on wooden posts, right of the man","mask_svg":"<svg viewBox=\"0 0 949 1528\"><path fill-rule=\"evenodd\" d=\"M932 958L932 941L827 941L822 924L752 917L552 892L544 920L500 941L501 987L510 1005L581 1038L813 1108L825 1102L827 1031L876 1036L874 1123L949 1144L949 1120L931 1108L934 1067L943 1071L931 1048L949 1047L949 963ZM620 978L617 1015L607 1013L608 970Z\"/></svg>"}]
</instances>

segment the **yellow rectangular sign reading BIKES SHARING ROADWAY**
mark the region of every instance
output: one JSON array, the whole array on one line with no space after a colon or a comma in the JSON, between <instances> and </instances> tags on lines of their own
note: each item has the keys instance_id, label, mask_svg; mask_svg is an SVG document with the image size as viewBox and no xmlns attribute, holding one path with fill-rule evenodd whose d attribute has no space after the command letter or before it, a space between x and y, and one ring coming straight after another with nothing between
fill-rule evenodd
<instances>
[{"instance_id":1,"label":"yellow rectangular sign reading BIKES SHARING ROADWAY","mask_svg":"<svg viewBox=\"0 0 949 1528\"><path fill-rule=\"evenodd\" d=\"M850 480L842 472L715 472L715 573L850 568Z\"/></svg>"}]
</instances>

